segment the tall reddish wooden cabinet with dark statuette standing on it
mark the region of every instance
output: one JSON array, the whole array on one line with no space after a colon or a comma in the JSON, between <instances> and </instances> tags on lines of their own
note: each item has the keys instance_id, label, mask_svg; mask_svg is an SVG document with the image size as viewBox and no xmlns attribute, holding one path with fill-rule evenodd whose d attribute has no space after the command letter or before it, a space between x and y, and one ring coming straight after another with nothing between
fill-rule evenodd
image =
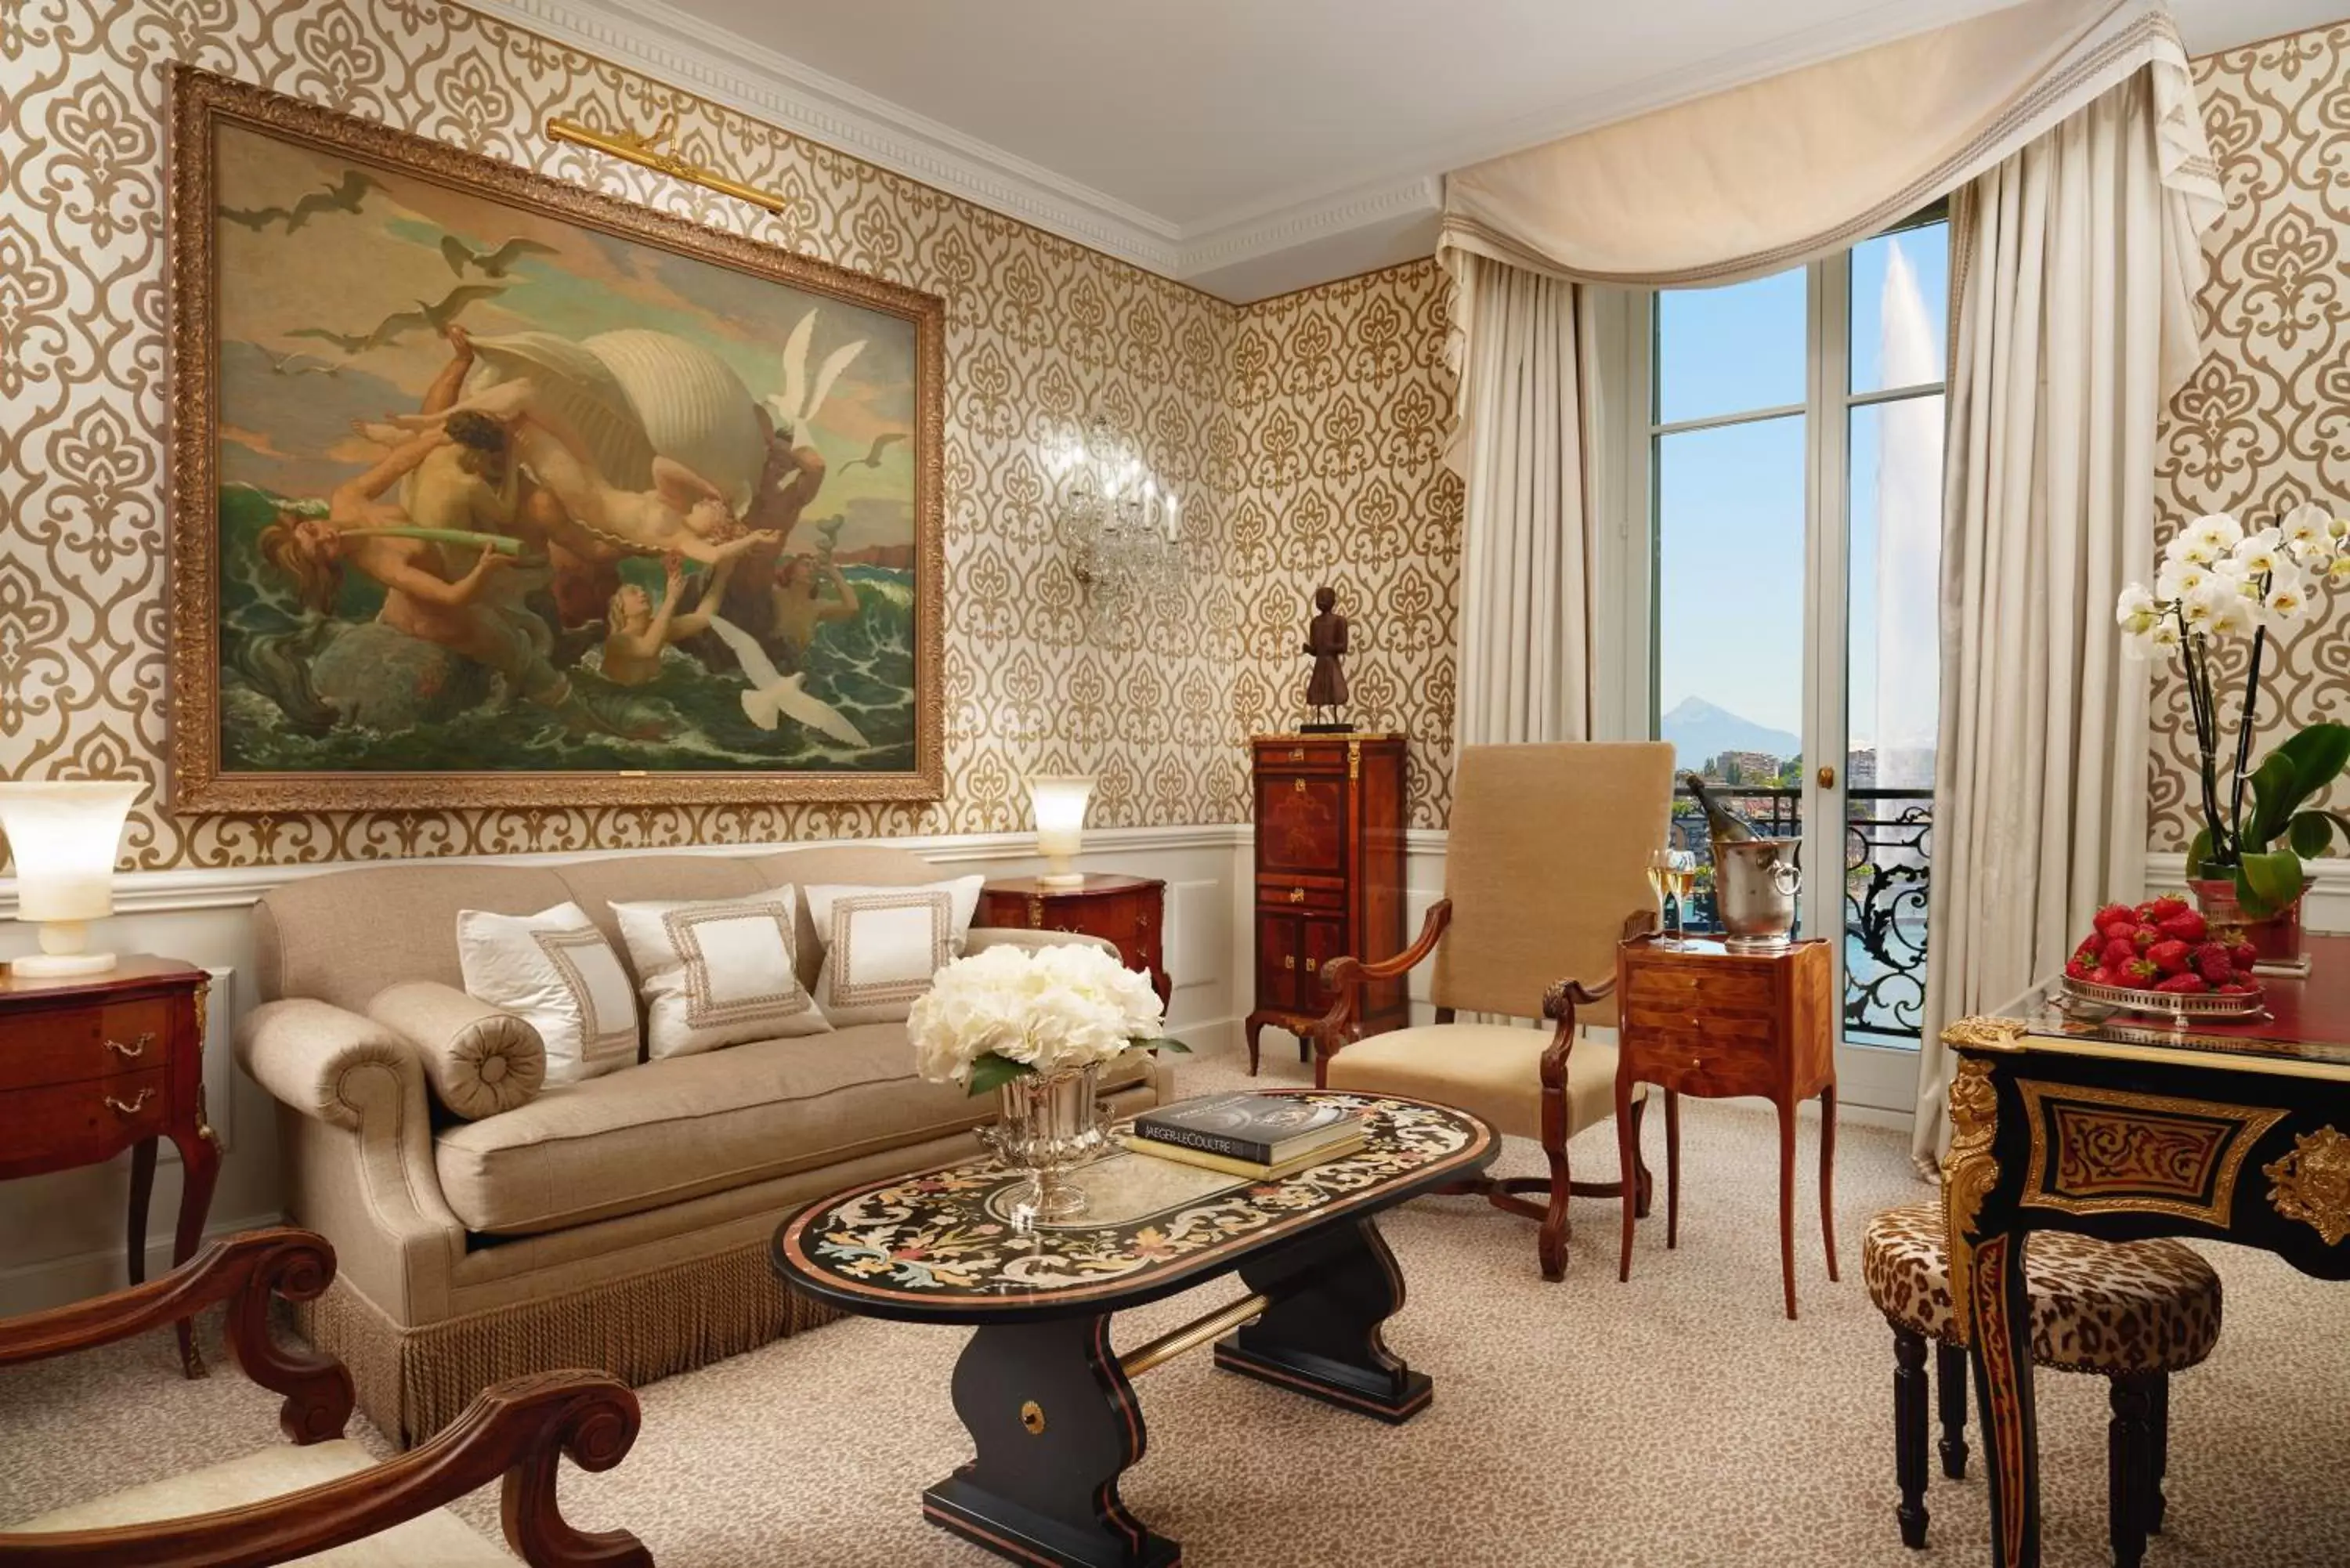
<instances>
[{"instance_id":1,"label":"tall reddish wooden cabinet with dark statuette standing on it","mask_svg":"<svg viewBox=\"0 0 2350 1568\"><path fill-rule=\"evenodd\" d=\"M1403 952L1403 736L1255 736L1257 1004L1248 1070L1264 1025L1300 1037L1330 1006L1335 957ZM1363 997L1363 1032L1405 1020L1403 980Z\"/></svg>"}]
</instances>

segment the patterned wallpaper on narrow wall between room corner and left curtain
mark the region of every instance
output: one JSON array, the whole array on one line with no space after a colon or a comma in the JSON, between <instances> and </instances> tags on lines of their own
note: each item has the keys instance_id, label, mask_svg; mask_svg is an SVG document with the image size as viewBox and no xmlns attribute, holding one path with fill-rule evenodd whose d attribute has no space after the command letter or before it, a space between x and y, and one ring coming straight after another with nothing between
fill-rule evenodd
<instances>
[{"instance_id":1,"label":"patterned wallpaper on narrow wall between room corner and left curtain","mask_svg":"<svg viewBox=\"0 0 2350 1568\"><path fill-rule=\"evenodd\" d=\"M1351 618L1356 724L1412 741L1415 827L1443 827L1452 799L1462 487L1438 461L1443 310L1434 261L1250 306L1222 484L1243 726L1304 717L1300 646L1328 583Z\"/></svg>"}]
</instances>

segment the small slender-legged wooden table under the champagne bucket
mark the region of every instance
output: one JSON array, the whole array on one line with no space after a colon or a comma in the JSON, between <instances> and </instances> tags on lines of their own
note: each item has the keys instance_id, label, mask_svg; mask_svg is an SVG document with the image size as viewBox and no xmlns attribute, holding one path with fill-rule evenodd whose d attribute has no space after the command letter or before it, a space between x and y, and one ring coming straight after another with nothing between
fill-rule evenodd
<instances>
[{"instance_id":1,"label":"small slender-legged wooden table under the champagne bucket","mask_svg":"<svg viewBox=\"0 0 2350 1568\"><path fill-rule=\"evenodd\" d=\"M1779 1272L1795 1316L1795 1107L1819 1095L1819 1234L1835 1281L1835 997L1828 943L1739 952L1720 938L1638 936L1617 947L1617 1152L1631 1279L1631 1086L1664 1088L1664 1244L1680 1241L1680 1095L1779 1107Z\"/></svg>"}]
</instances>

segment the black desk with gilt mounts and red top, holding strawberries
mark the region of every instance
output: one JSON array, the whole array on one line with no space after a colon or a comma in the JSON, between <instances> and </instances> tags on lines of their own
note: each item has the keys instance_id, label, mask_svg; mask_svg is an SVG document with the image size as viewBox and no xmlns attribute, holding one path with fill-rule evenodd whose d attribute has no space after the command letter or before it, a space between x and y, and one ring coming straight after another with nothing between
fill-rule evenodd
<instances>
[{"instance_id":1,"label":"black desk with gilt mounts and red top, holding strawberries","mask_svg":"<svg viewBox=\"0 0 2350 1568\"><path fill-rule=\"evenodd\" d=\"M2068 1018L2040 990L1943 1032L1950 1293L1972 1312L1995 1568L2040 1563L2030 1232L2235 1241L2350 1279L2350 938L2308 945L2310 978L2263 980L2254 1023Z\"/></svg>"}]
</instances>

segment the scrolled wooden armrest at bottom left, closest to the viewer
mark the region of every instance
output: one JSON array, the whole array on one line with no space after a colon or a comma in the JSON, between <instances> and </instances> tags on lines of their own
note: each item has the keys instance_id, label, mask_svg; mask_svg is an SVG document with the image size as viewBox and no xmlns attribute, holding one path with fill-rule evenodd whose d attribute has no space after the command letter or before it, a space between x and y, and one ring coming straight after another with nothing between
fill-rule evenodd
<instances>
[{"instance_id":1,"label":"scrolled wooden armrest at bottom left, closest to the viewer","mask_svg":"<svg viewBox=\"0 0 2350 1568\"><path fill-rule=\"evenodd\" d=\"M637 1396L606 1373L512 1378L430 1441L355 1476L190 1519L0 1535L0 1563L284 1563L430 1514L503 1474L505 1540L531 1568L651 1568L653 1556L627 1530L573 1530L555 1505L562 1455L580 1469L611 1469L637 1441Z\"/></svg>"}]
</instances>

